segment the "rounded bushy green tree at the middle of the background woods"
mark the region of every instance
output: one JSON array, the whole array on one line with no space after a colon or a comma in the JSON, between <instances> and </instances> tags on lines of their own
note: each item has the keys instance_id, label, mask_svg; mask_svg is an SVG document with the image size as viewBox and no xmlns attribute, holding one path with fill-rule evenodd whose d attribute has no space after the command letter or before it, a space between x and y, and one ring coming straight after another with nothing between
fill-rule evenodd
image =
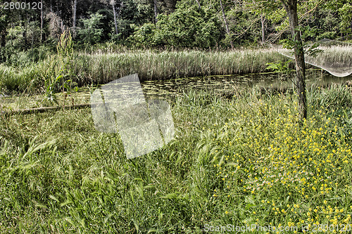
<instances>
[{"instance_id":1,"label":"rounded bushy green tree at the middle of the background woods","mask_svg":"<svg viewBox=\"0 0 352 234\"><path fill-rule=\"evenodd\" d=\"M147 23L138 28L131 40L144 46L213 48L223 37L222 31L214 9L180 2L170 15L159 15L156 25Z\"/></svg>"}]
</instances>

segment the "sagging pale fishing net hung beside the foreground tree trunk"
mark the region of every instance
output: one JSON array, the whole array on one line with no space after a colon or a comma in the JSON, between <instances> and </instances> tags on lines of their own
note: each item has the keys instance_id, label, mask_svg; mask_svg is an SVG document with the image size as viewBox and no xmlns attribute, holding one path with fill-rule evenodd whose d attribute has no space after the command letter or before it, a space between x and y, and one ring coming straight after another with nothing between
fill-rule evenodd
<instances>
[{"instance_id":1,"label":"sagging pale fishing net hung beside the foreground tree trunk","mask_svg":"<svg viewBox=\"0 0 352 234\"><path fill-rule=\"evenodd\" d=\"M315 48L315 44L318 47ZM306 53L305 62L320 67L336 77L346 77L352 74L352 44L343 41L322 39L308 46L308 51L318 50L318 53ZM279 48L278 52L294 59L293 50Z\"/></svg>"}]
</instances>

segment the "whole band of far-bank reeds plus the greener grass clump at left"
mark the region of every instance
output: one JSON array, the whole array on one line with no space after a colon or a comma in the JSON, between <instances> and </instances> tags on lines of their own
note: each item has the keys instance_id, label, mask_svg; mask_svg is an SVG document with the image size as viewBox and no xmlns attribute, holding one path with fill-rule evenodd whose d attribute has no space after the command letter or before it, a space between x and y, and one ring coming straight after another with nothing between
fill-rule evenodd
<instances>
[{"instance_id":1,"label":"whole band of far-bank reeds plus the greener grass clump at left","mask_svg":"<svg viewBox=\"0 0 352 234\"><path fill-rule=\"evenodd\" d=\"M65 62L68 65L65 69L70 70L72 82L84 86L106 84L134 73L138 73L141 81L146 81L268 72L268 63L284 63L287 60L273 49L74 52ZM61 73L59 61L54 55L23 67L0 65L0 90L4 93L43 93L46 85Z\"/></svg>"}]
</instances>

